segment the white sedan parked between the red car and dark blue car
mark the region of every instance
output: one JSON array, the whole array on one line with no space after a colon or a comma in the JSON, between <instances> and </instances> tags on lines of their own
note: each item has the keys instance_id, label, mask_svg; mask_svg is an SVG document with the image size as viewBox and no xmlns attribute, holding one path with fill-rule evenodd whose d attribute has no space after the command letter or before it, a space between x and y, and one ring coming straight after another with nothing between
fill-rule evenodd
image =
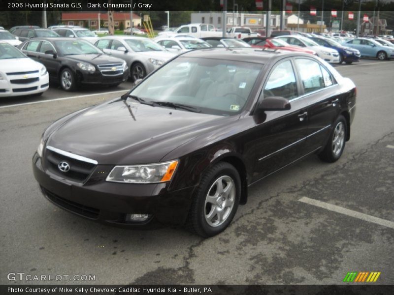
<instances>
[{"instance_id":1,"label":"white sedan parked between the red car and dark blue car","mask_svg":"<svg viewBox=\"0 0 394 295\"><path fill-rule=\"evenodd\" d=\"M285 35L285 36L278 36L275 39L282 39L286 41L290 45L299 46L299 47L307 47L316 52L319 58L326 60L327 62L331 63L338 63L339 62L339 53L337 50L320 46L315 41L297 35Z\"/></svg>"}]
</instances>

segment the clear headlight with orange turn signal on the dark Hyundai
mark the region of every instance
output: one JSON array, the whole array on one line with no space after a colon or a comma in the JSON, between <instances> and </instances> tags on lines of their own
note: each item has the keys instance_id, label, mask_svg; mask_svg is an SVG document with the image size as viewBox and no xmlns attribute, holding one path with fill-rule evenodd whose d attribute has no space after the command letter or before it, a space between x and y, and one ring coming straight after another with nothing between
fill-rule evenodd
<instances>
[{"instance_id":1,"label":"clear headlight with orange turn signal on the dark Hyundai","mask_svg":"<svg viewBox=\"0 0 394 295\"><path fill-rule=\"evenodd\" d=\"M149 165L115 166L106 181L127 183L155 183L170 181L178 161Z\"/></svg>"}]
</instances>

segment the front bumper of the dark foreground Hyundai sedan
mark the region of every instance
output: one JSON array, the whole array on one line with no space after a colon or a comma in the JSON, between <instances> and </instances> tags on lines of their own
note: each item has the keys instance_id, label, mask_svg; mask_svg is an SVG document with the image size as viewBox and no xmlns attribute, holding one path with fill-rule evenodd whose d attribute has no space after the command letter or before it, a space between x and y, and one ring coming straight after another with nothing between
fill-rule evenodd
<instances>
[{"instance_id":1,"label":"front bumper of the dark foreground Hyundai sedan","mask_svg":"<svg viewBox=\"0 0 394 295\"><path fill-rule=\"evenodd\" d=\"M84 183L59 177L33 156L33 174L44 196L55 205L91 220L141 226L152 219L180 225L186 221L195 187L168 191L168 183L131 184L105 181L111 165L97 165ZM150 214L147 222L126 221L127 214Z\"/></svg>"}]
</instances>

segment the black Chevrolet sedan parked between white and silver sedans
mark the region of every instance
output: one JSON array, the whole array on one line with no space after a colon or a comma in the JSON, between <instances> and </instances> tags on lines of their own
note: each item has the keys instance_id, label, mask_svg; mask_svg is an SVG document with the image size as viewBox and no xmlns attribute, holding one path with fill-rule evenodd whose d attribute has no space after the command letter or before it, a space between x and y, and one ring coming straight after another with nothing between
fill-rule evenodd
<instances>
[{"instance_id":1,"label":"black Chevrolet sedan parked between white and silver sedans","mask_svg":"<svg viewBox=\"0 0 394 295\"><path fill-rule=\"evenodd\" d=\"M118 86L128 77L124 60L104 54L91 43L70 38L34 38L18 46L45 65L52 82L66 91L81 84Z\"/></svg>"}]
</instances>

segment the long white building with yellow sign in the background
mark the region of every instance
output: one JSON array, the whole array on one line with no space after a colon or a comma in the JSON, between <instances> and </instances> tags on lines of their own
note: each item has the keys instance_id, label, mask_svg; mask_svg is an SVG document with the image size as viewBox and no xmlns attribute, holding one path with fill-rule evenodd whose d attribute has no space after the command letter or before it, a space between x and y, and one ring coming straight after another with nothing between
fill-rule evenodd
<instances>
[{"instance_id":1,"label":"long white building with yellow sign in the background","mask_svg":"<svg viewBox=\"0 0 394 295\"><path fill-rule=\"evenodd\" d=\"M249 27L251 29L265 29L265 13L233 13L232 11L227 12L227 28L231 27ZM222 28L222 12L218 11L205 11L205 12L194 12L191 16L191 23L202 23L211 24L216 28ZM285 17L285 27L289 23L297 23L297 16L291 15ZM299 19L299 24L303 24L304 21ZM271 14L271 29L277 29L280 26L280 15Z\"/></svg>"}]
</instances>

